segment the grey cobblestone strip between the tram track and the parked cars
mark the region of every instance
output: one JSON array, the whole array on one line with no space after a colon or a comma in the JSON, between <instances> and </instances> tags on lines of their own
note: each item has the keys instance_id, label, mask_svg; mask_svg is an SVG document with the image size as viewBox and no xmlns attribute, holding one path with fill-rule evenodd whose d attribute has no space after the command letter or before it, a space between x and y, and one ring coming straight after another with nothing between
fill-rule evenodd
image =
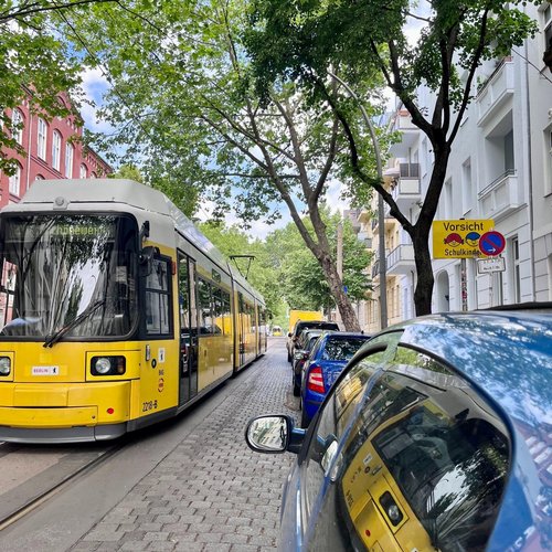
<instances>
[{"instance_id":1,"label":"grey cobblestone strip between the tram track and the parked cars","mask_svg":"<svg viewBox=\"0 0 552 552\"><path fill-rule=\"evenodd\" d=\"M238 374L212 411L71 551L265 551L277 548L282 487L295 455L253 453L247 421L297 417L285 339ZM185 414L184 414L185 416Z\"/></svg>"}]
</instances>

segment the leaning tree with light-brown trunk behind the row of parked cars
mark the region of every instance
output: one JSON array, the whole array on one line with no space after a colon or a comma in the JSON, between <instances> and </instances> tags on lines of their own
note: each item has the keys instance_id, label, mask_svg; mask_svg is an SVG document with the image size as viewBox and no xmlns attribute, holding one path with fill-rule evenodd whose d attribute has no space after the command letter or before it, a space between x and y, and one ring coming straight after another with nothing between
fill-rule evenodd
<instances>
[{"instance_id":1,"label":"leaning tree with light-brown trunk behind the row of parked cars","mask_svg":"<svg viewBox=\"0 0 552 552\"><path fill-rule=\"evenodd\" d=\"M126 145L146 174L178 173L180 185L204 190L214 217L233 205L245 224L273 222L284 204L344 326L358 330L320 213L329 183L350 179L339 120L293 83L258 97L241 40L246 10L246 0L94 6L72 11L63 34L86 44L86 62L113 83L103 114L118 132L107 140Z\"/></svg>"}]
</instances>

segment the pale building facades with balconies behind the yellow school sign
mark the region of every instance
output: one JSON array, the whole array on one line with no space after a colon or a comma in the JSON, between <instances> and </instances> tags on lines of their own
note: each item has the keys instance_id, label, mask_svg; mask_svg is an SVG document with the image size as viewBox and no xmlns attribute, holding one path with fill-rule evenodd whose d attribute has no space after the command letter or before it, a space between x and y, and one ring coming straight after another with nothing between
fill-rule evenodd
<instances>
[{"instance_id":1,"label":"pale building facades with balconies behind the yellow school sign","mask_svg":"<svg viewBox=\"0 0 552 552\"><path fill-rule=\"evenodd\" d=\"M506 238L503 272L479 274L477 259L466 259L469 309L552 300L552 72L542 61L552 38L552 6L546 1L526 9L538 20L541 33L514 49L511 56L479 68L475 97L453 144L435 217L491 219ZM427 91L420 91L418 104L432 105L431 99ZM432 170L431 144L405 109L397 110L395 129L403 135L392 147L385 185L415 222ZM376 213L374 205L370 211ZM376 253L380 232L370 211L361 213L359 221L373 237ZM410 237L391 221L385 219L384 233L389 323L415 316L416 283ZM433 310L461 310L460 261L434 259L433 270ZM376 263L372 278L365 331L380 328Z\"/></svg>"}]
</instances>

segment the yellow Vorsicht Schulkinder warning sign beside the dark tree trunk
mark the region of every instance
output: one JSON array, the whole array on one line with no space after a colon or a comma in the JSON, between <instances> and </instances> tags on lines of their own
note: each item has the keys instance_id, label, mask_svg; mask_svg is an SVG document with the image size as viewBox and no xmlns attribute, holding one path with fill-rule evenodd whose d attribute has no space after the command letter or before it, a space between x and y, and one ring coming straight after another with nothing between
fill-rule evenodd
<instances>
[{"instance_id":1,"label":"yellow Vorsicht Schulkinder warning sign beside the dark tree trunk","mask_svg":"<svg viewBox=\"0 0 552 552\"><path fill-rule=\"evenodd\" d=\"M479 240L493 227L492 219L433 221L433 258L482 257Z\"/></svg>"}]
</instances>

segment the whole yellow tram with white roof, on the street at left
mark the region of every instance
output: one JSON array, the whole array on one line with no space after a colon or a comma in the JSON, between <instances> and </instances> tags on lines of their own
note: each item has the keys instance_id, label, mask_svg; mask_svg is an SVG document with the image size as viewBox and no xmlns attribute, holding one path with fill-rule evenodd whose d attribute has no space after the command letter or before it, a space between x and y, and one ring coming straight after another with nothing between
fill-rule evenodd
<instances>
[{"instance_id":1,"label":"whole yellow tram with white roof, on the street at left","mask_svg":"<svg viewBox=\"0 0 552 552\"><path fill-rule=\"evenodd\" d=\"M36 181L0 247L0 440L119 437L266 351L262 296L152 188Z\"/></svg>"}]
</instances>

